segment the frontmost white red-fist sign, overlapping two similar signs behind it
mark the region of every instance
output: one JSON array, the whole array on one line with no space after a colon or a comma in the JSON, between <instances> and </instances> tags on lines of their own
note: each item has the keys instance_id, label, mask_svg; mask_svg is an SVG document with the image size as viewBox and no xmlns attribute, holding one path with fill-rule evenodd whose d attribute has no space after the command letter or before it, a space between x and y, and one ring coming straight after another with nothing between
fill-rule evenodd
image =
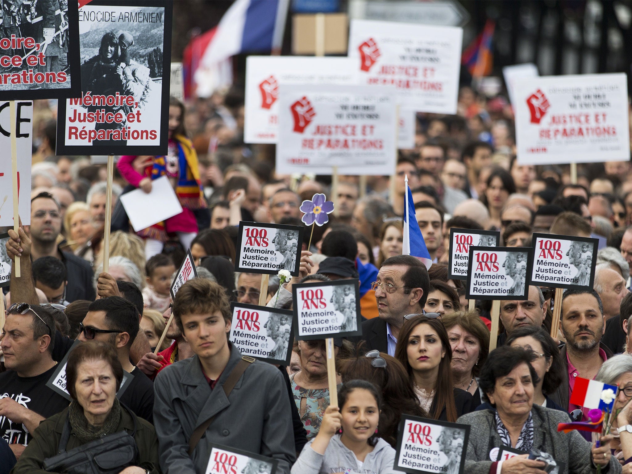
<instances>
[{"instance_id":1,"label":"frontmost white red-fist sign, overlapping two similar signs behind it","mask_svg":"<svg viewBox=\"0 0 632 474\"><path fill-rule=\"evenodd\" d=\"M392 174L398 120L393 88L279 87L277 173Z\"/></svg>"}]
</instances>

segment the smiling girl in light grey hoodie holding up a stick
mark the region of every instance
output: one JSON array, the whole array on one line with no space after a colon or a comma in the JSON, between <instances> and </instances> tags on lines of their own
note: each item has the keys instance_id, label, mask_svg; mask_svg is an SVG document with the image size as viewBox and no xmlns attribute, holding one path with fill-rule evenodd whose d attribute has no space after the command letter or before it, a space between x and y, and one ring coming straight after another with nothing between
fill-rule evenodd
<instances>
[{"instance_id":1,"label":"smiling girl in light grey hoodie holding up a stick","mask_svg":"<svg viewBox=\"0 0 632 474\"><path fill-rule=\"evenodd\" d=\"M380 394L366 380L349 380L328 406L316 437L308 442L291 474L391 474L395 450L377 435Z\"/></svg>"}]
</instances>

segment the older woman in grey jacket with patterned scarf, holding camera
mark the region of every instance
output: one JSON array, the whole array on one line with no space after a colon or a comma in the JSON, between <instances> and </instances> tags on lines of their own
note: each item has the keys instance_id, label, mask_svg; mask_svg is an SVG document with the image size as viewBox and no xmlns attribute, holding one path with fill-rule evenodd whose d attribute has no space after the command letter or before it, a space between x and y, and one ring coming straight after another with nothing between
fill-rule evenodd
<instances>
[{"instance_id":1,"label":"older woman in grey jacket with patterned scarf, holding camera","mask_svg":"<svg viewBox=\"0 0 632 474\"><path fill-rule=\"evenodd\" d=\"M480 374L480 388L492 410L475 411L461 416L457 423L476 427L470 431L465 472L468 474L542 474L542 461L527 459L528 454L506 461L495 458L500 446L511 446L525 453L539 449L549 453L560 474L588 474L597 471L621 473L621 465L611 456L612 436L600 438L600 447L583 439L576 431L558 432L559 423L568 423L568 415L533 404L538 375L531 362L533 351L502 346L490 353Z\"/></svg>"}]
</instances>

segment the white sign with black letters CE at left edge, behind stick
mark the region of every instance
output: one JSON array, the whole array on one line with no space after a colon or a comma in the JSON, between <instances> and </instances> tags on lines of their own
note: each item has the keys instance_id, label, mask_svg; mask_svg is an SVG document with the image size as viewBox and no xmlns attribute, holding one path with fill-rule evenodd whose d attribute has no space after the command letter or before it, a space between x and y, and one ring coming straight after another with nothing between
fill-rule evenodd
<instances>
[{"instance_id":1,"label":"white sign with black letters CE at left edge, behind stick","mask_svg":"<svg viewBox=\"0 0 632 474\"><path fill-rule=\"evenodd\" d=\"M18 155L18 212L22 224L31 223L31 157L33 154L33 102L17 100L16 150ZM11 171L11 120L9 102L0 102L0 227L13 227L13 173Z\"/></svg>"}]
</instances>

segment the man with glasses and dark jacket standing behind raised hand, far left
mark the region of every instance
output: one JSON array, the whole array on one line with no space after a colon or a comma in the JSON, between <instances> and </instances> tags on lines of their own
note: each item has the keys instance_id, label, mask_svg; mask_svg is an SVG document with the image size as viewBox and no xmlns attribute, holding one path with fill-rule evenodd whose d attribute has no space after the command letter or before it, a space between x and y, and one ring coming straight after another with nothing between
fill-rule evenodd
<instances>
[{"instance_id":1,"label":"man with glasses and dark jacket standing behind raised hand, far left","mask_svg":"<svg viewBox=\"0 0 632 474\"><path fill-rule=\"evenodd\" d=\"M17 235L9 231L11 238ZM57 238L61 233L61 211L58 202L50 193L39 193L31 200L30 240L22 241L21 270L30 273L28 255L33 260L41 257L55 257L66 265L68 284L66 285L66 300L92 301L97 297L92 286L92 267L71 252L62 252L57 245Z\"/></svg>"}]
</instances>

